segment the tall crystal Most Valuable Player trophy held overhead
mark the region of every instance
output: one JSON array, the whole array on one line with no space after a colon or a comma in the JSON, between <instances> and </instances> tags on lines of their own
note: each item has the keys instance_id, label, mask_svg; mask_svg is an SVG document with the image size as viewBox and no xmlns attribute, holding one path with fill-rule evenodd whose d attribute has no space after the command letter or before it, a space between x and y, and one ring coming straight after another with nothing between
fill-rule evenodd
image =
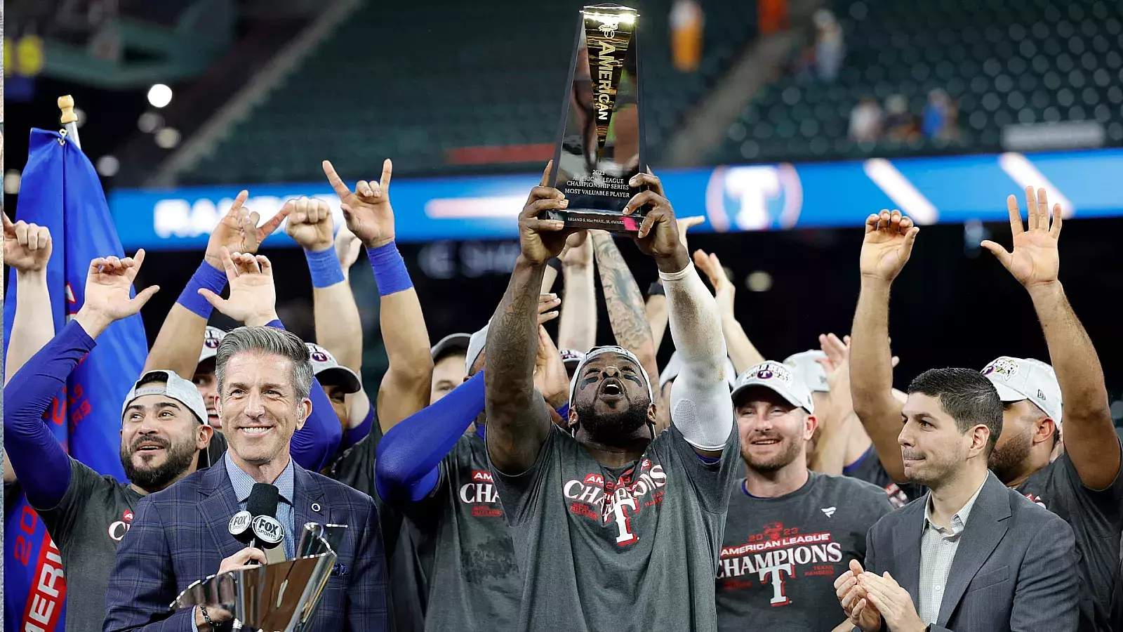
<instances>
[{"instance_id":1,"label":"tall crystal Most Valuable Player trophy held overhead","mask_svg":"<svg viewBox=\"0 0 1123 632\"><path fill-rule=\"evenodd\" d=\"M579 11L577 38L563 101L549 183L569 206L548 210L566 226L634 233L643 219L623 208L641 188L628 186L645 170L639 42L634 9L596 4Z\"/></svg>"}]
</instances>

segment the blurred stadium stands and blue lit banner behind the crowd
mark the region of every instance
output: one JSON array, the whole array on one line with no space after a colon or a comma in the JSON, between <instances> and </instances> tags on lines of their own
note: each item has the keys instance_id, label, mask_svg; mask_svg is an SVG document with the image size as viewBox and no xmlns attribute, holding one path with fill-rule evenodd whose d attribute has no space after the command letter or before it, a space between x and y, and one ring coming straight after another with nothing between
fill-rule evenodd
<instances>
[{"instance_id":1,"label":"blurred stadium stands and blue lit banner behind the crowd","mask_svg":"<svg viewBox=\"0 0 1123 632\"><path fill-rule=\"evenodd\" d=\"M767 356L848 332L861 222L897 207L925 225L893 298L898 386L935 365L1046 358L1024 291L978 247L1008 243L1005 196L1039 184L1071 213L1061 278L1123 424L1123 3L626 3L641 15L649 161L681 216L706 215L690 246L728 267ZM28 129L57 128L55 99L73 94L126 250L147 249L143 282L165 288L146 309L152 338L239 189L263 215L299 195L338 208L321 160L354 181L392 157L430 337L474 331L553 152L581 4L9 0L4 205ZM310 336L304 260L284 235L266 246L282 317ZM646 289L655 267L622 250ZM353 283L376 380L377 292L365 265ZM608 340L603 308L600 323Z\"/></svg>"}]
</instances>

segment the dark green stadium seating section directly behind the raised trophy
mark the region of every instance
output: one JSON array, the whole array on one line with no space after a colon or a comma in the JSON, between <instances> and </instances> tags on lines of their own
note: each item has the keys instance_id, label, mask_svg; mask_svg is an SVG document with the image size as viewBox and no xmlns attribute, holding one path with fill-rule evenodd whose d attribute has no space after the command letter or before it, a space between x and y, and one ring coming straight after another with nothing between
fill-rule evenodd
<instances>
[{"instance_id":1,"label":"dark green stadium seating section directly behind the raised trophy","mask_svg":"<svg viewBox=\"0 0 1123 632\"><path fill-rule=\"evenodd\" d=\"M672 0L629 4L642 20L645 124L657 161L685 110L755 35L756 9L706 3L701 69L679 73L670 64ZM405 174L503 169L448 164L446 152L555 142L576 7L562 0L366 3L182 181L319 180L322 159L351 178L376 173L387 156Z\"/></svg>"}]
</instances>

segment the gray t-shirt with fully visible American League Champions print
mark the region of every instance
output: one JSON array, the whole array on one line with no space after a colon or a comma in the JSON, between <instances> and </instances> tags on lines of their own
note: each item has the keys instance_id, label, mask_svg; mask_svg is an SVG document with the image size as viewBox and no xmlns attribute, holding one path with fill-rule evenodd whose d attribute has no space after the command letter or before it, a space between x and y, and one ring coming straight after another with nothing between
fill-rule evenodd
<instances>
[{"instance_id":1,"label":"gray t-shirt with fully visible American League Champions print","mask_svg":"<svg viewBox=\"0 0 1123 632\"><path fill-rule=\"evenodd\" d=\"M820 632L846 621L834 578L866 559L866 532L893 511L885 490L810 472L777 498L730 495L718 560L718 629Z\"/></svg>"}]
</instances>

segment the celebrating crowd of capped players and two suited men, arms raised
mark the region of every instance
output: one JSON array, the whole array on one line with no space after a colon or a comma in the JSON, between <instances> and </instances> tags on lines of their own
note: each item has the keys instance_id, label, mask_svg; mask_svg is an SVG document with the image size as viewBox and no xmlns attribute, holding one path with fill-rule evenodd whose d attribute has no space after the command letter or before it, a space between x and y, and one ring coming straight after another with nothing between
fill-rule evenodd
<instances>
[{"instance_id":1,"label":"celebrating crowd of capped players and two suited men, arms raised","mask_svg":"<svg viewBox=\"0 0 1123 632\"><path fill-rule=\"evenodd\" d=\"M253 504L249 486L274 486L268 511L291 525L309 511L301 486L328 478L376 513L348 525L351 567L334 574L314 630L1120 630L1120 441L1058 280L1062 217L1043 190L1025 192L1028 224L1007 200L1011 251L984 246L1029 294L1051 364L1004 355L901 392L888 297L920 229L898 211L866 219L850 334L777 362L738 324L716 256L688 254L699 218L676 219L657 178L636 177L646 190L626 210L646 213L633 241L659 270L646 299L626 240L539 218L566 206L544 178L494 316L431 344L394 246L390 162L354 190L325 172L346 228L309 199L262 223L243 193L211 234L122 401L126 481L67 457L44 415L98 334L155 292L129 295L144 253L93 261L82 310L54 332L49 235L6 219L19 312L4 484L61 550L69 632L231 629L220 608L176 617L167 604L202 576L292 553L237 542L229 516L182 486L206 495L219 480L235 511ZM256 255L285 219L314 288L317 340L295 351ZM389 358L373 396L347 278L360 246ZM597 285L609 346L594 340ZM211 309L245 327L208 326ZM554 318L557 341L542 327ZM174 524L143 524L157 518Z\"/></svg>"}]
</instances>

